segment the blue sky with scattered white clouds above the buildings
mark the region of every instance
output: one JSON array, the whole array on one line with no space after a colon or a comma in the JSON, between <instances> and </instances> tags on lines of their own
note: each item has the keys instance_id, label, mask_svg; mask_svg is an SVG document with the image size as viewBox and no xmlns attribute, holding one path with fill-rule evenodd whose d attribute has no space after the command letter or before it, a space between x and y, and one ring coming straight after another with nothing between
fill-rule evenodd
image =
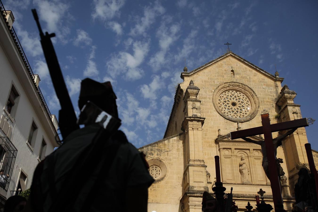
<instances>
[{"instance_id":1,"label":"blue sky with scattered white clouds above the buildings","mask_svg":"<svg viewBox=\"0 0 318 212\"><path fill-rule=\"evenodd\" d=\"M79 113L80 80L110 80L121 129L136 147L162 139L184 58L191 71L231 50L285 78L303 117L318 118L318 2L3 0L52 114L52 88L31 9L53 39L62 72ZM274 114L273 114L274 115ZM318 150L314 133L308 141Z\"/></svg>"}]
</instances>

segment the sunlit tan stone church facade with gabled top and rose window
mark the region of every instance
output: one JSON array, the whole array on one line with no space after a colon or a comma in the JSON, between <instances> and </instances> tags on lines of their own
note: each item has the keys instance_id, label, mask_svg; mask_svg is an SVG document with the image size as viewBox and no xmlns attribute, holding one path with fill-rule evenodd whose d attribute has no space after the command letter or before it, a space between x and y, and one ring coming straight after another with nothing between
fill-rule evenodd
<instances>
[{"instance_id":1,"label":"sunlit tan stone church facade with gabled top and rose window","mask_svg":"<svg viewBox=\"0 0 318 212\"><path fill-rule=\"evenodd\" d=\"M283 78L275 75L231 51L181 73L183 83L176 89L164 138L139 148L146 154L149 172L156 179L149 188L149 212L201 212L202 193L213 193L215 155L220 156L225 192L233 187L239 211L246 210L247 201L255 208L260 188L266 191L267 203L273 205L260 146L242 139L228 140L226 135L261 126L260 113L264 109L270 114L271 124L302 118L300 105L293 100L296 92L287 85L282 87ZM273 138L285 132L273 133ZM250 138L264 140L262 135ZM307 142L302 127L277 149L277 157L284 161L282 195L289 211L298 178L295 163L308 163L304 147Z\"/></svg>"}]
</instances>

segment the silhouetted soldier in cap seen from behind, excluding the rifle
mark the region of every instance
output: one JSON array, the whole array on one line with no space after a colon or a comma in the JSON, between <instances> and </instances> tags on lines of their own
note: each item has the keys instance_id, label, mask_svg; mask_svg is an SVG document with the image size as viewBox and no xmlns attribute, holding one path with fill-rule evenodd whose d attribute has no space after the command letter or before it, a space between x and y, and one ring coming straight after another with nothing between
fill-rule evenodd
<instances>
[{"instance_id":1,"label":"silhouetted soldier in cap seen from behind, excluding the rifle","mask_svg":"<svg viewBox=\"0 0 318 212\"><path fill-rule=\"evenodd\" d=\"M84 79L79 108L79 124L85 127L38 165L29 211L147 212L148 187L154 181L147 162L123 132L104 129L109 115L118 119L110 82Z\"/></svg>"}]
</instances>

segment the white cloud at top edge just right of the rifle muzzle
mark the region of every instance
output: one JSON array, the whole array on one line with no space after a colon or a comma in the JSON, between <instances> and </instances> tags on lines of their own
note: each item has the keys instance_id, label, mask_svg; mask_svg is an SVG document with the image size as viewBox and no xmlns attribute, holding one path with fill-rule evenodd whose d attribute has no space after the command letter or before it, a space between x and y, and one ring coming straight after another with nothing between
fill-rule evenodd
<instances>
[{"instance_id":1,"label":"white cloud at top edge just right of the rifle muzzle","mask_svg":"<svg viewBox=\"0 0 318 212\"><path fill-rule=\"evenodd\" d=\"M62 3L59 0L46 1L46 0L33 0L33 4L38 6L38 14L41 20L47 24L47 31L55 33L59 40L66 44L67 35L70 34L70 28L66 25L69 20L68 14L69 5Z\"/></svg>"}]
</instances>

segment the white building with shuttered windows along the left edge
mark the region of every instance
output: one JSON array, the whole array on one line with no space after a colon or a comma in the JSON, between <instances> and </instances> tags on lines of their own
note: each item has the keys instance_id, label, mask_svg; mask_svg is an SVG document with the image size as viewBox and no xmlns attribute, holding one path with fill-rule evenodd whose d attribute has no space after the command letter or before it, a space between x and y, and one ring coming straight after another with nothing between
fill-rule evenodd
<instances>
[{"instance_id":1,"label":"white building with shuttered windows along the left edge","mask_svg":"<svg viewBox=\"0 0 318 212\"><path fill-rule=\"evenodd\" d=\"M30 188L34 169L59 144L51 115L0 1L0 208L17 190ZM3 175L1 175L3 170Z\"/></svg>"}]
</instances>

